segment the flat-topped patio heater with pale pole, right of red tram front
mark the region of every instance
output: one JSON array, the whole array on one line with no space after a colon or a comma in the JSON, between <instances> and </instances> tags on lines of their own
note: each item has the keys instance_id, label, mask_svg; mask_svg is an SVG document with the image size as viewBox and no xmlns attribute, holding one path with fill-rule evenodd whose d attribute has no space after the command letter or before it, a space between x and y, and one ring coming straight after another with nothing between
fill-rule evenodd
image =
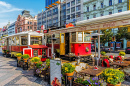
<instances>
[{"instance_id":1,"label":"flat-topped patio heater with pale pole, right of red tram front","mask_svg":"<svg viewBox=\"0 0 130 86\"><path fill-rule=\"evenodd\" d=\"M97 58L97 66L98 66L98 59L100 59L100 35L104 35L104 34L100 34L100 33L93 33L93 34L90 34L88 36L93 36L94 40L95 40L95 55L96 55L96 38L97 36L99 36L99 39L98 39L98 58Z\"/></svg>"}]
</instances>

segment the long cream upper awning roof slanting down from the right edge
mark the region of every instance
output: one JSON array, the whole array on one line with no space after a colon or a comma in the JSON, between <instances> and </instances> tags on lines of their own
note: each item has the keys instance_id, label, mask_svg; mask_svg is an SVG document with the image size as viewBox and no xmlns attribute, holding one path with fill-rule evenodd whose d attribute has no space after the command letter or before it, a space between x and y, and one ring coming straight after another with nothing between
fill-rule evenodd
<instances>
[{"instance_id":1,"label":"long cream upper awning roof slanting down from the right edge","mask_svg":"<svg viewBox=\"0 0 130 86\"><path fill-rule=\"evenodd\" d=\"M125 20L129 18L130 18L130 11L124 11L120 13L114 13L111 15L106 15L106 16L79 21L79 22L76 22L76 26L107 23L107 22L112 22L112 21Z\"/></svg>"}]
</instances>

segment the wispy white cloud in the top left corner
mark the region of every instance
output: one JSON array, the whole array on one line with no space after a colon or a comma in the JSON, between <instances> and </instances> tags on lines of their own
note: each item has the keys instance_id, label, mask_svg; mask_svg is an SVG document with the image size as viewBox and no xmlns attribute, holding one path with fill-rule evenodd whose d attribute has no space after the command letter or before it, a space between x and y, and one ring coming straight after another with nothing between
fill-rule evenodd
<instances>
[{"instance_id":1,"label":"wispy white cloud in the top left corner","mask_svg":"<svg viewBox=\"0 0 130 86\"><path fill-rule=\"evenodd\" d=\"M0 1L0 13L7 13L7 12L21 11L21 10L22 9L16 8L12 6L11 4Z\"/></svg>"}]
</instances>

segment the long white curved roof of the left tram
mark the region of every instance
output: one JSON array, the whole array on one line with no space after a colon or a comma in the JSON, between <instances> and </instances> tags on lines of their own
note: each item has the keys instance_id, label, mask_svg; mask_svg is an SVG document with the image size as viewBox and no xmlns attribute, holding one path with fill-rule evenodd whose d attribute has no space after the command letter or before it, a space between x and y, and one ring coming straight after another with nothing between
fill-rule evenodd
<instances>
[{"instance_id":1,"label":"long white curved roof of the left tram","mask_svg":"<svg viewBox=\"0 0 130 86\"><path fill-rule=\"evenodd\" d=\"M16 34L13 34L13 35L10 35L10 36L6 36L6 37L3 37L3 38L8 38L8 37L12 37L12 36L18 36L18 35L33 35L33 36L43 36L43 33L38 33L36 31L26 31L26 32L20 32L20 33L16 33Z\"/></svg>"}]
</instances>

